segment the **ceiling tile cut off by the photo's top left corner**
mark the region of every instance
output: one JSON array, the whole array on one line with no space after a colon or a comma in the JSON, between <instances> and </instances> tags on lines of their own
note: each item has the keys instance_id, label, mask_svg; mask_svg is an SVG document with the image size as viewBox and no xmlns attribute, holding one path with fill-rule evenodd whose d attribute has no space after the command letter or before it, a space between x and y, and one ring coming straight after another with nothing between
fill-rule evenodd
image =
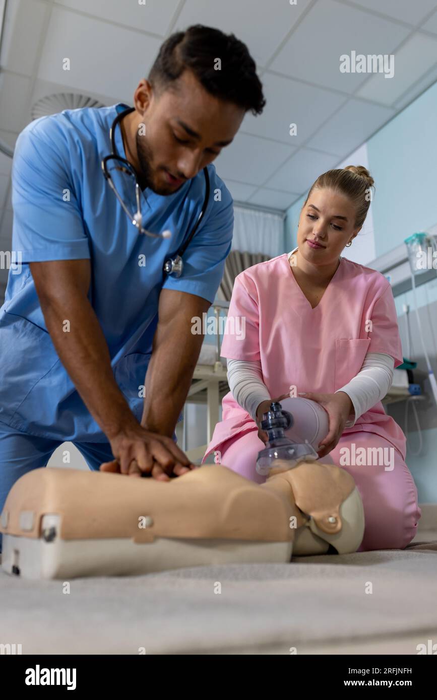
<instances>
[{"instance_id":1,"label":"ceiling tile cut off by the photo's top left corner","mask_svg":"<svg viewBox=\"0 0 437 700\"><path fill-rule=\"evenodd\" d=\"M48 11L48 4L39 0L8 3L1 46L2 68L32 76Z\"/></svg>"}]
</instances>

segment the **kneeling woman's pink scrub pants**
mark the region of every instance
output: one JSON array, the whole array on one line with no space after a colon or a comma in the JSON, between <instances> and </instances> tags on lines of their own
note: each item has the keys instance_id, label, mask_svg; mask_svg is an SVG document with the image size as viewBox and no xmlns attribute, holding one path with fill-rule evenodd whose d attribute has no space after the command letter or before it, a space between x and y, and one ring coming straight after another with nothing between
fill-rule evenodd
<instances>
[{"instance_id":1,"label":"kneeling woman's pink scrub pants","mask_svg":"<svg viewBox=\"0 0 437 700\"><path fill-rule=\"evenodd\" d=\"M340 449L349 448L349 454L355 445L359 447L393 447L391 443L377 435L360 430L346 433L340 437L338 444L329 453L333 463L349 472L354 477L356 487L363 500L366 526L359 552L372 549L403 549L411 542L417 531L417 523L422 512L417 505L417 489L410 470L397 449L386 454L393 454L394 468L386 470L384 465L340 465ZM237 474L263 484L265 477L256 472L256 457L265 444L258 437L258 431L252 430L241 437L233 437L221 445L221 463ZM345 453L342 453L345 454ZM383 453L382 453L383 454ZM321 458L324 461L324 458ZM358 461L357 459L355 461ZM388 463L388 460L387 460ZM391 466L391 465L390 465Z\"/></svg>"}]
</instances>

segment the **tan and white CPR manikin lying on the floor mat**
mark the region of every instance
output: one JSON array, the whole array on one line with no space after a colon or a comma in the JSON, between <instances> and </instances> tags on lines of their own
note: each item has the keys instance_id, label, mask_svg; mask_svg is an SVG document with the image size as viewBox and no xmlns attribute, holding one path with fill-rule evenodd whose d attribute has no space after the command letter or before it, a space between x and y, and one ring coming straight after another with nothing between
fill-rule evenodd
<instances>
[{"instance_id":1,"label":"tan and white CPR manikin lying on the floor mat","mask_svg":"<svg viewBox=\"0 0 437 700\"><path fill-rule=\"evenodd\" d=\"M313 419L303 433L312 441L324 437L314 435ZM277 458L264 484L220 464L169 482L36 469L13 485L0 530L7 573L65 579L285 563L292 555L326 554L330 545L339 554L355 552L364 515L353 477L304 449L302 461Z\"/></svg>"}]
</instances>

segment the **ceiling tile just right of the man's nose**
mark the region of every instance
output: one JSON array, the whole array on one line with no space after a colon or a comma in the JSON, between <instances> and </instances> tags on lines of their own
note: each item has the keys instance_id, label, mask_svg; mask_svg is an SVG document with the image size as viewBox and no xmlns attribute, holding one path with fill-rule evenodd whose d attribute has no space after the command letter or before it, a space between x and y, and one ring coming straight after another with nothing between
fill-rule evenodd
<instances>
[{"instance_id":1,"label":"ceiling tile just right of the man's nose","mask_svg":"<svg viewBox=\"0 0 437 700\"><path fill-rule=\"evenodd\" d=\"M214 165L225 181L230 178L249 185L263 185L293 151L296 149L292 146L277 141L237 133L232 144L223 148L214 160Z\"/></svg>"}]
</instances>

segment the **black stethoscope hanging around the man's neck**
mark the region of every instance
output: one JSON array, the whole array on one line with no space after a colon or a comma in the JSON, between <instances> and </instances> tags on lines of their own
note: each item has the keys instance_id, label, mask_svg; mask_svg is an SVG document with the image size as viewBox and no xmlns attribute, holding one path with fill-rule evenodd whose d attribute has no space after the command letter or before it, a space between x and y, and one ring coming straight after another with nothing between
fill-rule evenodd
<instances>
[{"instance_id":1,"label":"black stethoscope hanging around the man's neck","mask_svg":"<svg viewBox=\"0 0 437 700\"><path fill-rule=\"evenodd\" d=\"M127 107L123 112L118 113L116 118L113 120L113 123L111 125L111 129L109 130L109 138L111 139L111 147L112 147L112 153L110 155L106 155L105 158L102 160L102 171L104 174L104 177L106 181L109 183L109 186L111 187L111 190L113 191L114 195L116 195L118 202L120 202L121 207L127 214L127 216L130 218L130 221L134 224L134 226L137 227L139 233L144 233L146 236L151 236L153 238L169 238L172 235L172 232L169 230L165 230L162 233L152 233L151 231L147 231L145 228L142 227L142 214L141 214L141 204L140 204L140 193L141 193L141 188L139 186L139 181L138 181L138 175L137 171L134 169L133 165L126 160L125 158L122 158L120 155L118 155L117 147L116 147L116 139L115 139L115 131L116 131L116 126L120 122L120 120L123 119L127 114L130 114L130 112L134 111L134 107ZM130 175L134 178L134 183L135 183L135 199L137 203L137 211L136 213L132 216L130 213L129 209L127 209L125 203L123 202L122 198L118 194L116 190L116 186L113 183L111 173L109 172L109 169L107 167L107 164L110 160L115 160L118 162L118 165L116 166L116 170L120 170L121 172L124 172L127 175ZM190 235L188 236L188 239L186 239L185 243L179 248L179 251L177 251L176 255L174 258L168 258L165 260L164 266L162 268L163 272L165 274L168 274L169 276L172 277L180 277L182 272L183 272L183 260L182 260L182 255L185 253L186 248L190 244L190 241L193 239L193 236L195 235L195 232L197 231L197 228L202 221L202 218L204 216L204 213L207 209L208 206L208 200L209 200L209 175L208 175L208 170L206 167L203 169L204 173L204 178L205 178L205 183L206 183L206 193L204 197L204 202L202 205L202 211L200 211L199 216L197 217L197 221L195 223L195 226L193 230L191 231Z\"/></svg>"}]
</instances>

